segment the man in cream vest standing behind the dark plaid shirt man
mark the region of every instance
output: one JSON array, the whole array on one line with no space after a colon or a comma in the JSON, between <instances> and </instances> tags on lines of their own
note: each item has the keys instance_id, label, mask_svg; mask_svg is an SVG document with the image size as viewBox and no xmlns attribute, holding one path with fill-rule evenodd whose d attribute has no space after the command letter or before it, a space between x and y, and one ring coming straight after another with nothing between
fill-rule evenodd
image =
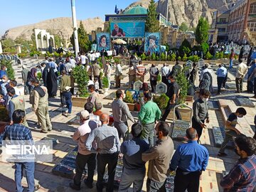
<instances>
[{"instance_id":1,"label":"man in cream vest standing behind the dark plaid shirt man","mask_svg":"<svg viewBox=\"0 0 256 192\"><path fill-rule=\"evenodd\" d=\"M21 95L18 96L15 94L15 90L13 87L9 87L7 92L8 92L9 97L11 97L9 100L9 105L8 105L10 124L14 124L14 121L12 119L14 111L16 111L16 110L25 111L25 100L24 100L23 96L21 96ZM26 117L24 117L22 124L23 124L23 126L28 127L28 123L26 122Z\"/></svg>"}]
</instances>

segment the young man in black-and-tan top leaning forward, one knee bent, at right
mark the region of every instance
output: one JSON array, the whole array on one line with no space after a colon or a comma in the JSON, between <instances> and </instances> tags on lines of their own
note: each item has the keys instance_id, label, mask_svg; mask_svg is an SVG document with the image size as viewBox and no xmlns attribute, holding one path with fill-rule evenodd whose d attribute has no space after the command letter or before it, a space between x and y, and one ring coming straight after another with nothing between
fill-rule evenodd
<instances>
[{"instance_id":1,"label":"young man in black-and-tan top leaning forward, one knee bent, at right","mask_svg":"<svg viewBox=\"0 0 256 192\"><path fill-rule=\"evenodd\" d=\"M239 107L238 110L231 113L228 116L227 121L225 122L225 138L223 143L220 146L220 151L218 152L218 156L227 156L225 154L225 147L227 146L229 141L233 141L233 137L238 137L240 131L235 128L235 125L238 124L238 117L242 118L247 114L245 108Z\"/></svg>"}]
</instances>

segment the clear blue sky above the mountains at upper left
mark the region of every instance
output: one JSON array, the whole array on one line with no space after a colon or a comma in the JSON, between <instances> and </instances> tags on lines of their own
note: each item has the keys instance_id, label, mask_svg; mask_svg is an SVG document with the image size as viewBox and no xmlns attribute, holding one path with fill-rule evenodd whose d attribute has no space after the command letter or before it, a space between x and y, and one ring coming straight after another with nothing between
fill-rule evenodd
<instances>
[{"instance_id":1,"label":"clear blue sky above the mountains at upper left","mask_svg":"<svg viewBox=\"0 0 256 192\"><path fill-rule=\"evenodd\" d=\"M78 20L114 14L114 7L125 9L136 0L75 0ZM71 17L70 0L0 0L0 37L9 28L23 26L49 18Z\"/></svg>"}]
</instances>

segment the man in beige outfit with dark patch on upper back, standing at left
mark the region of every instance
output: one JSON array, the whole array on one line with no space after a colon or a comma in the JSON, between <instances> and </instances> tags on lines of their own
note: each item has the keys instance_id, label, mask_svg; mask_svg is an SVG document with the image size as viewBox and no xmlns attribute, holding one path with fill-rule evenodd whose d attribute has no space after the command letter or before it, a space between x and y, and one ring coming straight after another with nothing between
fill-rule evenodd
<instances>
[{"instance_id":1,"label":"man in beige outfit with dark patch on upper back, standing at left","mask_svg":"<svg viewBox=\"0 0 256 192\"><path fill-rule=\"evenodd\" d=\"M48 92L47 88L40 86L38 79L31 81L33 89L33 111L36 112L38 121L41 124L41 132L47 133L52 130L48 110Z\"/></svg>"}]
</instances>

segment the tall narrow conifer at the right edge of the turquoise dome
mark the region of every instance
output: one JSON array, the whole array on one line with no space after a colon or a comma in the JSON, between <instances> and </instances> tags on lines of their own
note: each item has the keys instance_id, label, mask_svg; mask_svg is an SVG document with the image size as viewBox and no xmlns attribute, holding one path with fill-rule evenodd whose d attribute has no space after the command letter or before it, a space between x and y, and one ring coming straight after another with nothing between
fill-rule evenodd
<instances>
[{"instance_id":1,"label":"tall narrow conifer at the right edge of the turquoise dome","mask_svg":"<svg viewBox=\"0 0 256 192\"><path fill-rule=\"evenodd\" d=\"M154 0L150 1L148 13L146 16L146 32L159 32L159 21L157 21L156 4Z\"/></svg>"}]
</instances>

